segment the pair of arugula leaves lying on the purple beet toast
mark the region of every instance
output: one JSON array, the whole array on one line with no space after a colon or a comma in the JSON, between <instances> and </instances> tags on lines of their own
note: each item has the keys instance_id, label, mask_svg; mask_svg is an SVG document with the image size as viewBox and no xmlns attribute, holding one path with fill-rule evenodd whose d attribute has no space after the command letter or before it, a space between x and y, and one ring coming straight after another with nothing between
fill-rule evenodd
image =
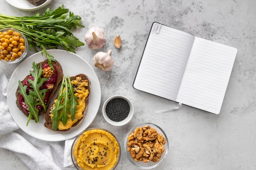
<instances>
[{"instance_id":1,"label":"pair of arugula leaves lying on the purple beet toast","mask_svg":"<svg viewBox=\"0 0 256 170\"><path fill-rule=\"evenodd\" d=\"M38 63L33 62L32 68L33 71L29 71L30 74L34 77L34 80L29 79L29 85L32 87L32 89L29 91L29 94L27 94L27 85L22 85L21 81L19 80L19 88L18 91L25 100L25 103L27 104L29 111L29 118L27 120L27 125L29 124L29 120L31 120L32 117L35 118L35 122L39 122L39 116L38 116L38 109L36 108L37 105L41 105L46 112L47 105L45 105L44 98L45 94L48 91L48 89L39 89L45 81L48 80L48 78L41 78L42 75L42 66Z\"/></svg>"}]
</instances>

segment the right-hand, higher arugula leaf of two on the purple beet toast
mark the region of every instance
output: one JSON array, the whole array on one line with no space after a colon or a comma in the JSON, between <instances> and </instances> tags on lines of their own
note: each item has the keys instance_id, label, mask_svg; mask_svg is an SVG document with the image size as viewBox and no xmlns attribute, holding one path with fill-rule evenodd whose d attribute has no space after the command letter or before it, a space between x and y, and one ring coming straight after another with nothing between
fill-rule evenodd
<instances>
[{"instance_id":1,"label":"right-hand, higher arugula leaf of two on the purple beet toast","mask_svg":"<svg viewBox=\"0 0 256 170\"><path fill-rule=\"evenodd\" d=\"M47 105L45 105L44 98L45 98L45 92L48 91L48 89L42 89L39 88L43 85L44 81L47 81L48 78L41 78L42 75L42 66L35 62L33 62L33 71L29 71L30 74L34 77L34 80L29 79L29 84L33 88L29 93L36 96L38 98L39 102L36 103L36 105L42 105L44 111L47 110Z\"/></svg>"}]
</instances>

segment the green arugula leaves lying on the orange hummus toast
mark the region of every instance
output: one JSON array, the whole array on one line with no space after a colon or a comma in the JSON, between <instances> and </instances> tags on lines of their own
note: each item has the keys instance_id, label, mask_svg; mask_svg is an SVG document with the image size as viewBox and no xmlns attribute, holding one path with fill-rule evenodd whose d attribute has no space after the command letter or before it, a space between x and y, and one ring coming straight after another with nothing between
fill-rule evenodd
<instances>
[{"instance_id":1,"label":"green arugula leaves lying on the orange hummus toast","mask_svg":"<svg viewBox=\"0 0 256 170\"><path fill-rule=\"evenodd\" d=\"M58 129L58 121L61 120L63 125L67 124L68 116L67 112L71 114L71 120L73 121L76 113L77 97L74 94L74 88L70 81L70 76L67 72L67 78L63 76L61 83L61 89L58 93L58 99L55 102L55 107L52 109L52 130ZM61 113L60 113L61 112Z\"/></svg>"}]
</instances>

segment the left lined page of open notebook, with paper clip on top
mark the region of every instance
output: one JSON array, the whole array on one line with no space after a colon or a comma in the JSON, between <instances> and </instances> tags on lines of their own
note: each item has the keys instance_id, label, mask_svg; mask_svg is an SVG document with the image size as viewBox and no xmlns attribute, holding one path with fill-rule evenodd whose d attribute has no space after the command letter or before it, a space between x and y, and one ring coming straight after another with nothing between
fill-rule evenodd
<instances>
[{"instance_id":1,"label":"left lined page of open notebook, with paper clip on top","mask_svg":"<svg viewBox=\"0 0 256 170\"><path fill-rule=\"evenodd\" d=\"M194 41L188 33L155 22L150 30L133 87L176 100Z\"/></svg>"}]
</instances>

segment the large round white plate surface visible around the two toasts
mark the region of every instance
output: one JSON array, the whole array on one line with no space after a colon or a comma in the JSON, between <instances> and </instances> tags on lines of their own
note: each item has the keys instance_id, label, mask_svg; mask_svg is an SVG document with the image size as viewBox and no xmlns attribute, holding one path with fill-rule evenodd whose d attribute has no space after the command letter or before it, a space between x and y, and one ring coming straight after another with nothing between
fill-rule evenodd
<instances>
[{"instance_id":1,"label":"large round white plate surface visible around the two toasts","mask_svg":"<svg viewBox=\"0 0 256 170\"><path fill-rule=\"evenodd\" d=\"M67 76L68 71L70 76L82 73L86 74L90 78L91 93L89 96L88 112L84 120L79 124L79 126L73 127L67 132L51 131L45 128L43 125L45 122L44 115L39 117L38 123L35 123L34 120L30 120L28 126L26 126L27 117L16 106L15 93L18 87L18 81L22 81L29 74L29 70L32 70L32 63L34 61L39 63L46 59L45 54L42 56L41 52L31 55L20 63L16 70L14 70L7 89L7 103L13 120L25 133L45 141L63 141L79 135L79 133L84 131L92 123L99 110L101 102L101 87L99 79L92 67L79 55L65 50L47 50L47 52L61 63L63 74L65 76ZM55 96L52 99L54 99Z\"/></svg>"}]
</instances>

